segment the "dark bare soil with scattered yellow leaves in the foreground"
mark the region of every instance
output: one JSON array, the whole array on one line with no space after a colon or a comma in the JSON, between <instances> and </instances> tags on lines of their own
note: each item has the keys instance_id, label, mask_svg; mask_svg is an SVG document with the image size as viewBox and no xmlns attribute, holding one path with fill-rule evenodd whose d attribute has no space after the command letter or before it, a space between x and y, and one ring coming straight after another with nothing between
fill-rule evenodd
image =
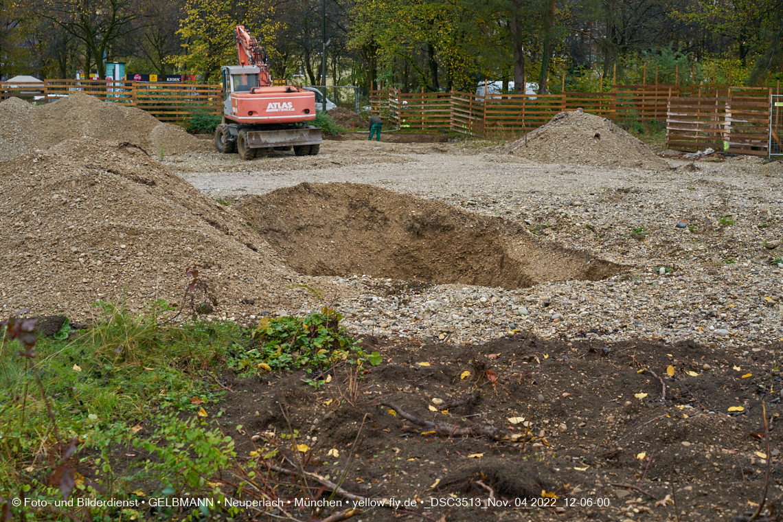
<instances>
[{"instance_id":1,"label":"dark bare soil with scattered yellow leaves in the foreground","mask_svg":"<svg viewBox=\"0 0 783 522\"><path fill-rule=\"evenodd\" d=\"M778 345L747 356L692 342L607 345L525 333L478 347L374 337L365 344L384 362L364 369L358 388L348 367L320 376L317 391L301 382L304 373L229 376L222 416L244 426L240 455L255 449L255 434L290 434L288 416L297 443L310 448L305 469L322 477L336 479L359 440L343 488L427 508L381 507L358 520L732 520L762 495L762 401L778 454L781 399L764 395L781 385L770 372ZM392 405L489 435L438 433ZM737 406L742 412L729 410ZM327 456L333 448L339 457ZM770 471L781 473L778 459ZM281 485L279 495L301 491ZM486 509L490 496L498 506ZM767 501L779 496L770 488ZM453 498L474 506L429 509L431 499Z\"/></svg>"}]
</instances>

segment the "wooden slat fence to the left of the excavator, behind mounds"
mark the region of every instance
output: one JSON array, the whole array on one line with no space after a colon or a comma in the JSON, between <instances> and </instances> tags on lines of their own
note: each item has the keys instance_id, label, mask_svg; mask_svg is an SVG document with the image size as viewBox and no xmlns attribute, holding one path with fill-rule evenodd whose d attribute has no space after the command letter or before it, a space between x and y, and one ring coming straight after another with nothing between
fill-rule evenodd
<instances>
[{"instance_id":1,"label":"wooden slat fence to the left of the excavator, behind mounds","mask_svg":"<svg viewBox=\"0 0 783 522\"><path fill-rule=\"evenodd\" d=\"M222 113L221 85L70 79L27 85L0 82L0 100L16 96L31 103L52 103L77 92L139 107L171 123L187 121L197 112Z\"/></svg>"}]
</instances>

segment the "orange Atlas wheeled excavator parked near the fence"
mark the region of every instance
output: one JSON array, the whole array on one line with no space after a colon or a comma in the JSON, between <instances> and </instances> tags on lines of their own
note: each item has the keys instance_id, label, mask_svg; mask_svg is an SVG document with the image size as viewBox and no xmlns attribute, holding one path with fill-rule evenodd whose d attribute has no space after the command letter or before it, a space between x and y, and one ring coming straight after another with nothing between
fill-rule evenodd
<instances>
[{"instance_id":1,"label":"orange Atlas wheeled excavator parked near the fence","mask_svg":"<svg viewBox=\"0 0 783 522\"><path fill-rule=\"evenodd\" d=\"M263 47L236 26L238 66L222 67L223 120L215 129L220 153L238 152L252 160L272 149L297 156L315 156L323 138L321 129L308 125L316 119L316 95L290 85L272 85Z\"/></svg>"}]
</instances>

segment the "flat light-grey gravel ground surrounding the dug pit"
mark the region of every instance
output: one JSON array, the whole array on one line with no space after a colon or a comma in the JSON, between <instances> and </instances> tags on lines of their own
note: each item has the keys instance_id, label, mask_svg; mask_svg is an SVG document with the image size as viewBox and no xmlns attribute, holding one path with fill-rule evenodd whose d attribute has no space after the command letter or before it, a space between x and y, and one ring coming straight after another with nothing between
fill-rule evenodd
<instances>
[{"instance_id":1,"label":"flat light-grey gravel ground surrounding the dug pit","mask_svg":"<svg viewBox=\"0 0 783 522\"><path fill-rule=\"evenodd\" d=\"M542 239L628 267L604 281L514 290L322 276L359 293L335 303L357 333L477 344L516 329L727 347L783 337L783 196L761 160L669 158L670 171L644 171L532 164L482 145L330 141L306 162L285 153L249 163L216 153L167 161L212 197L369 183L524 223Z\"/></svg>"}]
</instances>

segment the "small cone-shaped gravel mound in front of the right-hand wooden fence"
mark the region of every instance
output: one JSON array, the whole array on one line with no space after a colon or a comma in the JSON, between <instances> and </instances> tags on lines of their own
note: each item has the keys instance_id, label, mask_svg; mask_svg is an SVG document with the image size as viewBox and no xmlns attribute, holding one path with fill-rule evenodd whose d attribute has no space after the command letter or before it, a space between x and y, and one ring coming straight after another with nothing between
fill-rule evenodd
<instances>
[{"instance_id":1,"label":"small cone-shaped gravel mound in front of the right-hand wooden fence","mask_svg":"<svg viewBox=\"0 0 783 522\"><path fill-rule=\"evenodd\" d=\"M559 113L504 149L539 163L665 170L669 164L607 118Z\"/></svg>"}]
</instances>

